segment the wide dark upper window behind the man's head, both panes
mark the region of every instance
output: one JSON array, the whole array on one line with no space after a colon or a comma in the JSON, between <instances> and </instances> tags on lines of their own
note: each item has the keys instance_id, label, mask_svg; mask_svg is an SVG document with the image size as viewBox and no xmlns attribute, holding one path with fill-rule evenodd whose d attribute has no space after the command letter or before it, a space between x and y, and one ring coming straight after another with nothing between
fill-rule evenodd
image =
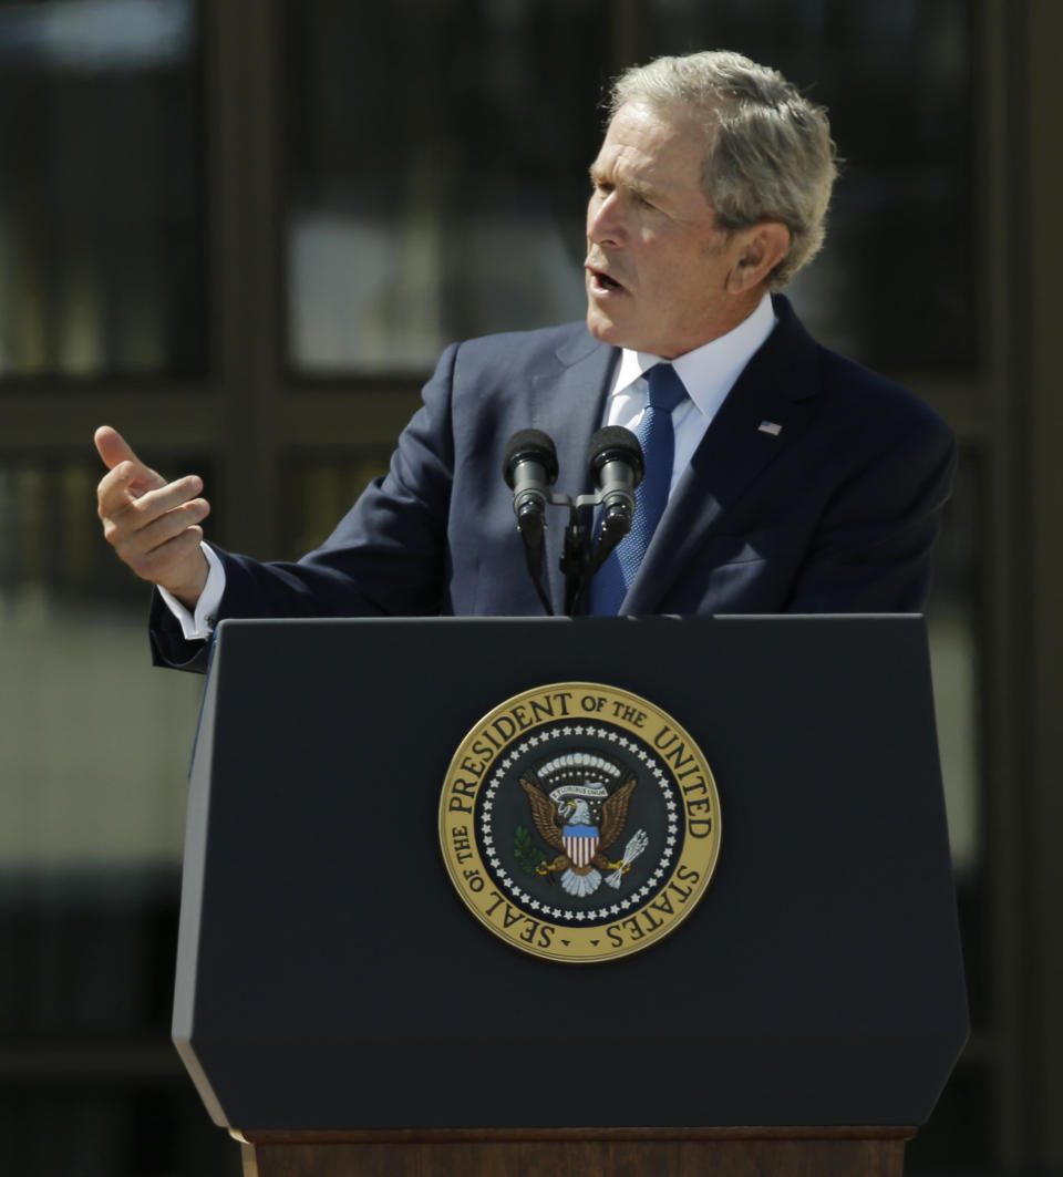
<instances>
[{"instance_id":1,"label":"wide dark upper window behind the man's head, both panes","mask_svg":"<svg viewBox=\"0 0 1063 1177\"><path fill-rule=\"evenodd\" d=\"M975 366L970 5L625 11L287 7L294 367L416 371L457 338L580 318L603 86L618 65L713 47L778 67L830 109L844 167L828 245L792 287L813 333L886 370Z\"/></svg>"}]
</instances>

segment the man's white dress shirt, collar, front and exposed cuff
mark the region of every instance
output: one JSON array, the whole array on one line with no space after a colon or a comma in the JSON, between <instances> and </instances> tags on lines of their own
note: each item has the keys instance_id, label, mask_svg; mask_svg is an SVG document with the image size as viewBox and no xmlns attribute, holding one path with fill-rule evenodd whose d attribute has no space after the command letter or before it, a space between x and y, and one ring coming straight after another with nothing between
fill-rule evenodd
<instances>
[{"instance_id":1,"label":"man's white dress shirt, collar, front and exposed cuff","mask_svg":"<svg viewBox=\"0 0 1063 1177\"><path fill-rule=\"evenodd\" d=\"M765 294L757 305L757 310L748 319L743 319L732 331L671 361L690 395L687 400L672 411L676 457L672 463L670 494L675 491L676 483L686 470L695 450L705 435L705 430L712 424L712 418L731 391L731 386L752 359L753 353L771 334L775 325L776 317L771 306L771 295ZM646 385L642 379L643 373L659 363L659 355L624 348L620 363L617 365L612 390L605 404L606 425L623 425L629 430L633 430L638 425L646 408ZM207 544L201 546L210 571L194 612L185 609L165 588L159 590L170 611L180 623L181 632L187 641L210 638L217 624L218 610L225 592L225 568L221 561Z\"/></svg>"}]
</instances>

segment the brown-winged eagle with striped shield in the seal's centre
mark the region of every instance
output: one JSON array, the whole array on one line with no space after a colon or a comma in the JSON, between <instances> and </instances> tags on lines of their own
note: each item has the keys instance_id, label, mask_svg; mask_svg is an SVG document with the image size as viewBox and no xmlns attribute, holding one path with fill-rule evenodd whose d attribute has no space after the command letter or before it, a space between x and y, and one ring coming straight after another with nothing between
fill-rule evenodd
<instances>
[{"instance_id":1,"label":"brown-winged eagle with striped shield in the seal's centre","mask_svg":"<svg viewBox=\"0 0 1063 1177\"><path fill-rule=\"evenodd\" d=\"M591 805L584 797L559 796L565 789L546 793L526 776L520 778L520 787L531 803L536 829L543 840L556 850L553 862L540 863L539 875L560 876L562 887L573 896L593 895L602 884L602 871L626 873L631 869L631 857L611 862L603 850L609 850L624 832L627 806L637 779L631 776L600 804L600 819L596 820ZM600 786L599 786L600 787ZM573 793L583 790L572 790ZM602 790L604 792L604 790ZM645 837L645 836L644 836Z\"/></svg>"}]
</instances>

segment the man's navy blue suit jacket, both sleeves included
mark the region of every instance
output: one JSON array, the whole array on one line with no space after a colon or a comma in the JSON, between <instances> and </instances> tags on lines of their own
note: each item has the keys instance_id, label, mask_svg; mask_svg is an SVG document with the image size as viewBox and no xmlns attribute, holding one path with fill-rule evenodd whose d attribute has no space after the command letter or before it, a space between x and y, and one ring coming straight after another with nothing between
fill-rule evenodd
<instances>
[{"instance_id":1,"label":"man's navy blue suit jacket, both sleeves included","mask_svg":"<svg viewBox=\"0 0 1063 1177\"><path fill-rule=\"evenodd\" d=\"M955 465L943 421L899 386L820 347L789 302L669 500L622 613L912 612ZM590 490L618 351L583 324L447 348L390 472L295 564L221 552L222 617L542 614L503 481L519 428L557 443L557 488ZM779 426L777 434L759 428ZM550 592L566 513L551 508ZM165 606L157 660L201 665Z\"/></svg>"}]
</instances>

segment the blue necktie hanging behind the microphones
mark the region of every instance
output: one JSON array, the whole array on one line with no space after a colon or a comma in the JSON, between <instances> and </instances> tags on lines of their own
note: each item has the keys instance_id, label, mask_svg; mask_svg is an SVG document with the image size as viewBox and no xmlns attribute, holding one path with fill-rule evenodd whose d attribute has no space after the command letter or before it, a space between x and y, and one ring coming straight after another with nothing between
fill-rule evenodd
<instances>
[{"instance_id":1,"label":"blue necktie hanging behind the microphones","mask_svg":"<svg viewBox=\"0 0 1063 1177\"><path fill-rule=\"evenodd\" d=\"M650 539L664 514L672 483L676 457L672 410L686 398L686 390L671 364L656 364L651 367L646 383L649 404L635 431L643 447L646 473L635 492L631 531L609 554L591 581L590 612L599 616L619 612L620 601L635 579Z\"/></svg>"}]
</instances>

